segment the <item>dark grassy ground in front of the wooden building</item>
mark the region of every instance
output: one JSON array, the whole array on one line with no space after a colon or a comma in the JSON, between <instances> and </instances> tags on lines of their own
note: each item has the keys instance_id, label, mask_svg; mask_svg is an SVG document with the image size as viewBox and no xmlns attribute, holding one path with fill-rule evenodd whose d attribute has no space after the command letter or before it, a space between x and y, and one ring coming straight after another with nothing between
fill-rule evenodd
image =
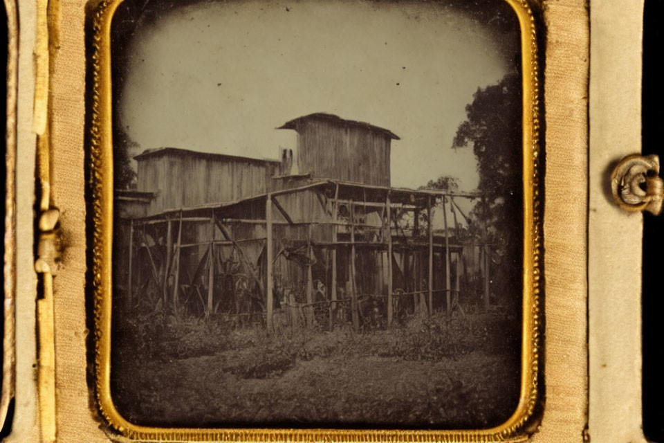
<instances>
[{"instance_id":1,"label":"dark grassy ground in front of the wooden building","mask_svg":"<svg viewBox=\"0 0 664 443\"><path fill-rule=\"evenodd\" d=\"M145 320L127 320L112 365L113 398L140 424L481 428L518 400L520 336L506 316L275 336Z\"/></svg>"}]
</instances>

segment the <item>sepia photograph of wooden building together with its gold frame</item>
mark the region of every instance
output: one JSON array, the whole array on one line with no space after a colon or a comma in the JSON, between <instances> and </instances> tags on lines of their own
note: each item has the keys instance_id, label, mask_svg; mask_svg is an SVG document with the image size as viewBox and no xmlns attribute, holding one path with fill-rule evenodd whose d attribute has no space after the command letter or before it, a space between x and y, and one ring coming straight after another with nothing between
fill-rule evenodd
<instances>
[{"instance_id":1,"label":"sepia photograph of wooden building together with its gold frame","mask_svg":"<svg viewBox=\"0 0 664 443\"><path fill-rule=\"evenodd\" d=\"M95 384L113 432L526 437L542 296L526 1L89 13Z\"/></svg>"}]
</instances>

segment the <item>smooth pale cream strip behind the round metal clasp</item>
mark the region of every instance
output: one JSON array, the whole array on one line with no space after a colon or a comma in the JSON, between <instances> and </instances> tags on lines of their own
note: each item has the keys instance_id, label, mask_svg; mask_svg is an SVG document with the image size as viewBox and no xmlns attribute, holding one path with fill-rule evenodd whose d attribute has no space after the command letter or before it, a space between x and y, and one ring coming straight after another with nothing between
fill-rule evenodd
<instances>
[{"instance_id":1,"label":"smooth pale cream strip behind the round metal clasp","mask_svg":"<svg viewBox=\"0 0 664 443\"><path fill-rule=\"evenodd\" d=\"M598 442L645 442L643 215L620 210L607 190L610 168L623 156L641 151L642 17L643 1L596 0L591 10L589 430Z\"/></svg>"}]
</instances>

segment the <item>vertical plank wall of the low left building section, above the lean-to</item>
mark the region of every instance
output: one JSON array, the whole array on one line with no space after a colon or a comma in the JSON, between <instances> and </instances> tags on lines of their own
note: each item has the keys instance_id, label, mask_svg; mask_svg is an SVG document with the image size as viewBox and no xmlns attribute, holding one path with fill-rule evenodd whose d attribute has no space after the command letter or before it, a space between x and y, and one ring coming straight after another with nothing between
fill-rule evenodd
<instances>
[{"instance_id":1,"label":"vertical plank wall of the low left building section, above the lean-to","mask_svg":"<svg viewBox=\"0 0 664 443\"><path fill-rule=\"evenodd\" d=\"M157 192L149 214L266 192L279 163L156 153L138 160L138 190Z\"/></svg>"}]
</instances>

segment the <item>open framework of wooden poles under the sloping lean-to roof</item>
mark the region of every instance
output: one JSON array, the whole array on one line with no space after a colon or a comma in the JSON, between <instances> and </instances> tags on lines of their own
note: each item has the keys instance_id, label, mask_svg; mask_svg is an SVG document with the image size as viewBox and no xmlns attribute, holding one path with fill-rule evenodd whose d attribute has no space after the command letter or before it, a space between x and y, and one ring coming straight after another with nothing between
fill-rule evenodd
<instances>
[{"instance_id":1,"label":"open framework of wooden poles under the sloping lean-to roof","mask_svg":"<svg viewBox=\"0 0 664 443\"><path fill-rule=\"evenodd\" d=\"M275 279L275 262L286 256L291 260L297 258L306 275L306 302L299 304L304 309L306 325L314 323L315 305L324 304L329 309L329 327L333 327L338 307L349 304L351 323L359 330L359 300L367 296L361 291L359 279L367 275L358 275L361 273L358 259L369 254L382 263L387 254L387 266L380 265L380 269L387 271L386 287L383 289L378 284L369 295L385 300L385 324L389 327L394 321L394 309L403 298L412 298L415 305L424 308L423 313L431 315L434 295L442 293L441 309L449 315L454 298L459 296L463 248L472 246L481 251L481 297L483 307L488 309L490 244L486 226L479 241L459 242L459 235L454 235L460 226L457 213L468 217L454 199L462 198L481 199L481 195L322 180L239 201L175 208L149 217L127 219L124 226L128 225L128 242L123 246L127 254L127 285L122 291L123 302L131 309L149 286L153 292L156 289L164 305L177 308L183 305L183 300L198 299L203 314L209 316L215 305L223 301L215 300L215 288L220 284L215 278L221 273L232 273L230 267L235 266L242 269L237 274L241 278L223 284L231 285L234 291L246 292L244 301L239 300L240 296L235 297L237 309L242 303L249 310L251 305L255 306L255 310L261 311L268 331L273 332L275 309L279 309L275 296L282 298L279 300L282 305L291 306L293 302L293 297L288 300L278 287L279 278ZM443 229L437 235L432 222L436 209L443 214ZM448 220L448 211L453 220ZM409 222L404 224L404 219ZM275 251L277 244L281 246ZM319 288L313 279L314 248L324 251L326 275L331 275L329 284L318 282ZM232 266L228 264L230 259L221 258L222 251L227 257L232 255ZM342 265L347 266L343 270L348 274L346 288L338 287L340 253L344 255ZM403 282L402 287L395 289L393 263L397 254L402 262L403 257L411 254L414 269L409 270L412 281ZM434 255L438 255L436 260ZM456 259L454 283L452 255ZM141 262L137 265L139 257ZM436 269L436 263L441 269ZM141 269L147 269L148 275L136 275L145 273ZM402 269L405 274L405 267ZM425 278L418 279L419 275ZM442 287L436 288L436 281ZM324 287L326 300L315 300L320 287Z\"/></svg>"}]
</instances>

